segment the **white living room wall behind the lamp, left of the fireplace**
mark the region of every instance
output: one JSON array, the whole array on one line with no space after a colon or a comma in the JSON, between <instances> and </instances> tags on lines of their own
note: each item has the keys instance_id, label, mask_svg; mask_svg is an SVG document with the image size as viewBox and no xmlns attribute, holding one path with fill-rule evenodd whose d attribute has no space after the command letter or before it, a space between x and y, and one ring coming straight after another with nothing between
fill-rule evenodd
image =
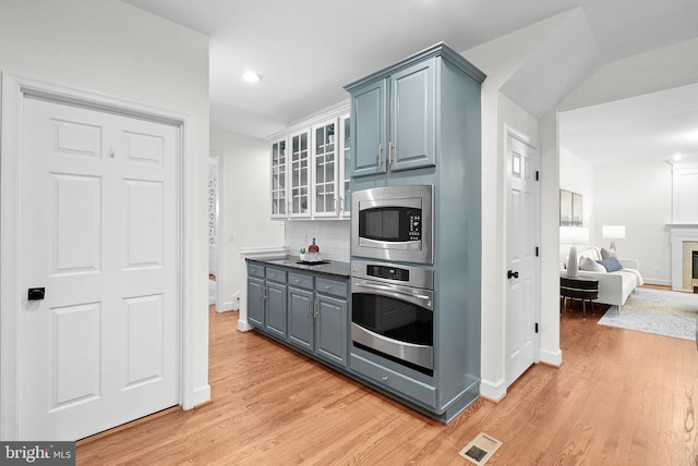
<instances>
[{"instance_id":1,"label":"white living room wall behind the lamp, left of the fireplace","mask_svg":"<svg viewBox=\"0 0 698 466\"><path fill-rule=\"evenodd\" d=\"M638 259L642 278L671 284L672 168L665 162L601 167L594 170L594 237L601 226L625 225L625 240L616 240L618 255ZM607 244L606 244L607 243Z\"/></svg>"}]
</instances>

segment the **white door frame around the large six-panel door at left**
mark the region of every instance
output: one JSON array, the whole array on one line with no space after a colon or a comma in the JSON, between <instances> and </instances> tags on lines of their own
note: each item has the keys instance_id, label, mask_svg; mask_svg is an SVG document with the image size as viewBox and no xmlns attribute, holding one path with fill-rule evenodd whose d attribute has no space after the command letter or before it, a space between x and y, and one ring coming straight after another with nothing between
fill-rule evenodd
<instances>
[{"instance_id":1,"label":"white door frame around the large six-panel door at left","mask_svg":"<svg viewBox=\"0 0 698 466\"><path fill-rule=\"evenodd\" d=\"M177 192L178 209L178 287L180 308L180 405L190 409L195 403L194 303L193 303L193 224L194 167L191 149L191 116L148 107L119 98L49 84L13 72L2 73L2 145L0 148L0 439L17 438L19 410L19 343L17 309L23 298L20 286L19 250L21 232L22 182L22 113L26 96L39 97L64 103L86 106L100 111L117 112L127 116L143 118L180 128L180 152Z\"/></svg>"}]
</instances>

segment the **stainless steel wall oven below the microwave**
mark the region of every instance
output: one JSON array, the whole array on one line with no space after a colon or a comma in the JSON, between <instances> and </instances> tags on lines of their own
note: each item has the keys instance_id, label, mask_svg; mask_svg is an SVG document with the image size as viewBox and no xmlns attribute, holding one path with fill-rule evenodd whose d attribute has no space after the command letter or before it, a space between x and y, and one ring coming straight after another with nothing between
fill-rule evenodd
<instances>
[{"instance_id":1,"label":"stainless steel wall oven below the microwave","mask_svg":"<svg viewBox=\"0 0 698 466\"><path fill-rule=\"evenodd\" d=\"M352 344L433 376L433 270L353 260L351 274Z\"/></svg>"}]
</instances>

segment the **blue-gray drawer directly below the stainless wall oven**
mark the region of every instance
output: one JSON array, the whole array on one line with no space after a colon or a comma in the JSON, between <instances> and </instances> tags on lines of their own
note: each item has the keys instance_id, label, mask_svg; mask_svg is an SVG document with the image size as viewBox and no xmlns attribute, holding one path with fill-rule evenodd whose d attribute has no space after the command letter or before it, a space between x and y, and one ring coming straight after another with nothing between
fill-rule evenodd
<instances>
[{"instance_id":1,"label":"blue-gray drawer directly below the stainless wall oven","mask_svg":"<svg viewBox=\"0 0 698 466\"><path fill-rule=\"evenodd\" d=\"M378 387L385 387L393 392L406 395L429 406L436 406L436 389L433 387L402 376L356 354L351 355L350 364L353 370L373 380Z\"/></svg>"}]
</instances>

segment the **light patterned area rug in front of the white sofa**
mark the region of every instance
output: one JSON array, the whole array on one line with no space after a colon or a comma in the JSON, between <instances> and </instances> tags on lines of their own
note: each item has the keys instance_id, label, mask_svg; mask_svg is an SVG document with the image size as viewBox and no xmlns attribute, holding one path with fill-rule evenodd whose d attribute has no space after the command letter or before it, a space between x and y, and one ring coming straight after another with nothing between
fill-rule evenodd
<instances>
[{"instance_id":1,"label":"light patterned area rug in front of the white sofa","mask_svg":"<svg viewBox=\"0 0 698 466\"><path fill-rule=\"evenodd\" d=\"M617 306L611 306L598 323L696 340L698 294L638 287L621 307L621 314Z\"/></svg>"}]
</instances>

